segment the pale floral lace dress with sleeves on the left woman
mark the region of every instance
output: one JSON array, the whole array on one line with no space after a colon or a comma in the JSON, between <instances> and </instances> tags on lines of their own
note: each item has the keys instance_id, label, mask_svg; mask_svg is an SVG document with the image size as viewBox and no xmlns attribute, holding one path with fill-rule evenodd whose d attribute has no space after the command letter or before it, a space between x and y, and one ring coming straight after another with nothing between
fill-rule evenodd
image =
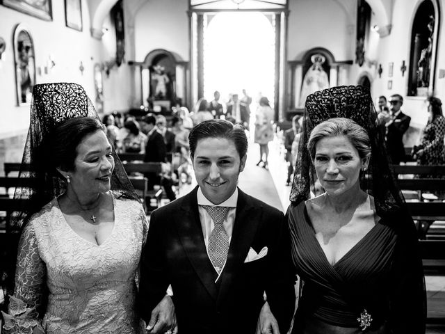
<instances>
[{"instance_id":1,"label":"pale floral lace dress with sleeves on the left woman","mask_svg":"<svg viewBox=\"0 0 445 334\"><path fill-rule=\"evenodd\" d=\"M72 230L57 199L31 218L19 241L9 315L3 313L6 333L143 333L136 275L147 219L136 200L113 196L113 205L113 232L99 246Z\"/></svg>"}]
</instances>

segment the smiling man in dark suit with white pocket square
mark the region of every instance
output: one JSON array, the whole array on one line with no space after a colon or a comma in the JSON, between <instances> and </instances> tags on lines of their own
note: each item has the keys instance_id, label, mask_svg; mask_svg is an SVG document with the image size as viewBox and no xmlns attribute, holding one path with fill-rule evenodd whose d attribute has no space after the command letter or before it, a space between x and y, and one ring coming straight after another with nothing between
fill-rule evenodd
<instances>
[{"instance_id":1,"label":"smiling man in dark suit with white pocket square","mask_svg":"<svg viewBox=\"0 0 445 334\"><path fill-rule=\"evenodd\" d=\"M280 210L237 187L243 127L208 120L188 138L198 186L152 212L143 250L138 305L149 333L286 333L289 230Z\"/></svg>"}]
</instances>

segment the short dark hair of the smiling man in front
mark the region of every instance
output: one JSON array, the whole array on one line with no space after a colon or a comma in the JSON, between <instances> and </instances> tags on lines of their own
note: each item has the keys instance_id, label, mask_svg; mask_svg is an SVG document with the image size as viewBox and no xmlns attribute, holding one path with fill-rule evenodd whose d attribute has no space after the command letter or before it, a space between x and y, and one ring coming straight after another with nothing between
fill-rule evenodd
<instances>
[{"instance_id":1,"label":"short dark hair of the smiling man in front","mask_svg":"<svg viewBox=\"0 0 445 334\"><path fill-rule=\"evenodd\" d=\"M240 159L243 159L248 152L248 137L245 135L242 125L233 125L227 120L206 120L196 125L188 134L192 159L195 155L197 142L205 138L225 138L233 141Z\"/></svg>"}]
</instances>

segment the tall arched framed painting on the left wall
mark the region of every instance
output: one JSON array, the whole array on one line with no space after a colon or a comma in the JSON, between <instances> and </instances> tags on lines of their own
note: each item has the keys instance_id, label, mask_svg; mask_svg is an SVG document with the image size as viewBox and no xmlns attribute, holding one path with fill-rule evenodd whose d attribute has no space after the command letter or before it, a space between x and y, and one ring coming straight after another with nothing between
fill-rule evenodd
<instances>
[{"instance_id":1,"label":"tall arched framed painting on the left wall","mask_svg":"<svg viewBox=\"0 0 445 334\"><path fill-rule=\"evenodd\" d=\"M15 86L17 105L31 103L35 84L35 54L31 32L23 24L14 31Z\"/></svg>"}]
</instances>

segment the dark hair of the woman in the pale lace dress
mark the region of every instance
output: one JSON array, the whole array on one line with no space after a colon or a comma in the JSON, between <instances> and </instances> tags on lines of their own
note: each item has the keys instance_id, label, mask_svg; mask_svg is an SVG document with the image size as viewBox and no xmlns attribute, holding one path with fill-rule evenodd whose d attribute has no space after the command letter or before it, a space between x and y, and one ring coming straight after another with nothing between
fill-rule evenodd
<instances>
[{"instance_id":1,"label":"dark hair of the woman in the pale lace dress","mask_svg":"<svg viewBox=\"0 0 445 334\"><path fill-rule=\"evenodd\" d=\"M44 154L41 157L46 159L54 173L56 168L74 170L77 146L86 136L99 130L106 134L105 126L97 118L76 117L58 122L42 143Z\"/></svg>"}]
</instances>

